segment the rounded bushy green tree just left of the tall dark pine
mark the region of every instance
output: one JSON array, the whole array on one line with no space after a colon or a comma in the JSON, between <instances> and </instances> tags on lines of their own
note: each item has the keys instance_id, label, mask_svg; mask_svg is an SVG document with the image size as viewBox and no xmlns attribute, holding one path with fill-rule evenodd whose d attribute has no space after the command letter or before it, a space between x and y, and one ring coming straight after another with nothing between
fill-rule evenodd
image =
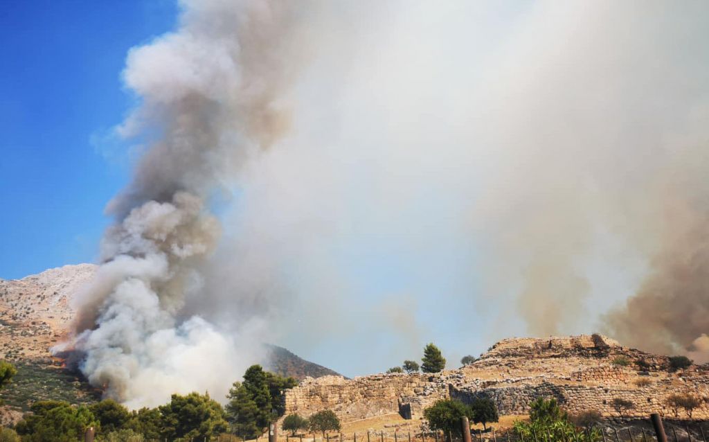
<instances>
[{"instance_id":1,"label":"rounded bushy green tree just left of the tall dark pine","mask_svg":"<svg viewBox=\"0 0 709 442\"><path fill-rule=\"evenodd\" d=\"M224 410L209 394L173 394L170 402L159 409L163 422L162 436L169 439L209 440L228 429Z\"/></svg>"}]
</instances>

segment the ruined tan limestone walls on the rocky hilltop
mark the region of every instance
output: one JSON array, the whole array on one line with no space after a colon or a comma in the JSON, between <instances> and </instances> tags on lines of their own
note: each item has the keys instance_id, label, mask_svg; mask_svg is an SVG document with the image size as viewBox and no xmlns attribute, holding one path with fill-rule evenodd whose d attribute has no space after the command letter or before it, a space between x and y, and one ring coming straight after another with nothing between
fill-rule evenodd
<instances>
[{"instance_id":1,"label":"ruined tan limestone walls on the rocky hilltop","mask_svg":"<svg viewBox=\"0 0 709 442\"><path fill-rule=\"evenodd\" d=\"M618 357L627 365L619 365ZM537 397L555 397L571 414L594 409L618 416L612 402L623 398L635 404L626 416L651 412L672 416L665 399L678 393L703 399L693 416L709 418L709 367L692 365L669 372L668 366L666 356L623 347L597 334L512 338L496 343L472 365L434 375L307 378L286 392L286 414L309 416L332 409L345 422L395 412L420 419L423 409L438 399L469 402L486 396L496 402L501 414L526 414Z\"/></svg>"}]
</instances>

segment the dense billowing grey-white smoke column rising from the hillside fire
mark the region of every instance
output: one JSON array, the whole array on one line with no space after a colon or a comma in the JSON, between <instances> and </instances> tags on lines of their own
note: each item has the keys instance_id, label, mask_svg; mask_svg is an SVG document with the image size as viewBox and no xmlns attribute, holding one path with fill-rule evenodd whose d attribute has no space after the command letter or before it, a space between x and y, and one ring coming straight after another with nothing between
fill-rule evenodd
<instances>
[{"instance_id":1,"label":"dense billowing grey-white smoke column rising from the hillside fire","mask_svg":"<svg viewBox=\"0 0 709 442\"><path fill-rule=\"evenodd\" d=\"M128 54L125 84L140 105L120 131L146 147L133 182L108 205L116 223L76 299L69 344L89 382L130 407L194 390L221 400L261 357L253 336L264 311L232 333L183 311L186 300L206 299L200 267L220 238L210 197L288 126L296 60L286 6L185 0L177 31Z\"/></svg>"}]
</instances>

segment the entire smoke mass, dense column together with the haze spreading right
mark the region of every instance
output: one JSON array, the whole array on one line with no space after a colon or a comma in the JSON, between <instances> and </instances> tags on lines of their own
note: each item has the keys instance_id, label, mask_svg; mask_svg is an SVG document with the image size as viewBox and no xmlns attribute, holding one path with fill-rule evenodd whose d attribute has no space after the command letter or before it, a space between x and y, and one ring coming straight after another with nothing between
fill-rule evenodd
<instances>
[{"instance_id":1,"label":"entire smoke mass, dense column together with the haze spreading right","mask_svg":"<svg viewBox=\"0 0 709 442\"><path fill-rule=\"evenodd\" d=\"M348 375L599 326L705 359L706 4L284 5L186 1L130 52L91 382L218 396L271 336Z\"/></svg>"}]
</instances>

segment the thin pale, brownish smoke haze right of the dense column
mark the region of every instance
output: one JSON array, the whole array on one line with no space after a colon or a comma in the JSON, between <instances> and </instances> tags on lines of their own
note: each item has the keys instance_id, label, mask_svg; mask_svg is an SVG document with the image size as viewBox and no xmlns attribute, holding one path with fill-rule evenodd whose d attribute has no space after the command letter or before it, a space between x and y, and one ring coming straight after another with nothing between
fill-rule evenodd
<instances>
[{"instance_id":1,"label":"thin pale, brownish smoke haze right of the dense column","mask_svg":"<svg viewBox=\"0 0 709 442\"><path fill-rule=\"evenodd\" d=\"M236 221L243 250L259 250L250 273L277 269L270 284L302 301L291 314L306 325L281 324L294 348L397 363L418 336L458 348L598 328L646 350L702 348L701 260L686 289L661 289L666 319L623 304L705 241L707 6L325 9L337 26L296 87L289 149L252 165ZM420 333L363 319L412 299ZM357 343L391 332L401 340Z\"/></svg>"}]
</instances>

